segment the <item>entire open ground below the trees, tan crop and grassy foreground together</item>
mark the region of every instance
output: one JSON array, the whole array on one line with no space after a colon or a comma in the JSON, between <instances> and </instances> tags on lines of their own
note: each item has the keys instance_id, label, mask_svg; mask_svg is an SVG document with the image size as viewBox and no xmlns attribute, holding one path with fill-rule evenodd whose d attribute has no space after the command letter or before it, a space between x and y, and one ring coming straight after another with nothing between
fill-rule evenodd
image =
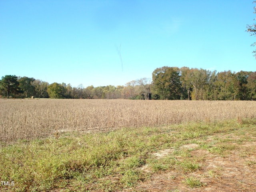
<instances>
[{"instance_id":1,"label":"entire open ground below the trees, tan crop and grassy foreground together","mask_svg":"<svg viewBox=\"0 0 256 192\"><path fill-rule=\"evenodd\" d=\"M3 192L256 191L256 102L0 99L0 107Z\"/></svg>"}]
</instances>

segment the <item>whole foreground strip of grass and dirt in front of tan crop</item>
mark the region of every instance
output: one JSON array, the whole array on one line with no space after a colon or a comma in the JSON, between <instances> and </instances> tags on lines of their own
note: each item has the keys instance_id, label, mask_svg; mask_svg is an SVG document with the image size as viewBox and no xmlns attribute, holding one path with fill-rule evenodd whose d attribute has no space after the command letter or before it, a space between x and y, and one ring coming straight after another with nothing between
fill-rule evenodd
<instances>
[{"instance_id":1,"label":"whole foreground strip of grass and dirt in front of tan crop","mask_svg":"<svg viewBox=\"0 0 256 192\"><path fill-rule=\"evenodd\" d=\"M225 182L232 191L238 191L239 183L254 191L250 170L256 168L255 143L255 118L2 142L0 191L218 191ZM224 167L210 164L231 159L234 152L248 178L232 182ZM157 177L166 182L159 186Z\"/></svg>"}]
</instances>

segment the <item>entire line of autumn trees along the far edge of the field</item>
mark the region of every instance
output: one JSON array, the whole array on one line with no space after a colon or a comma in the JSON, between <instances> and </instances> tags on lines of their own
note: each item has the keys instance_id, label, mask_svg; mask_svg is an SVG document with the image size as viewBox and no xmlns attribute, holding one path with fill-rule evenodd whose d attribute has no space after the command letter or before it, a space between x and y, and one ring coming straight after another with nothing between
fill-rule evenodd
<instances>
[{"instance_id":1,"label":"entire line of autumn trees along the far edge of the field","mask_svg":"<svg viewBox=\"0 0 256 192\"><path fill-rule=\"evenodd\" d=\"M29 77L3 76L2 98L256 100L256 72L216 72L202 68L156 68L152 80L132 80L125 86L88 86L44 82Z\"/></svg>"}]
</instances>

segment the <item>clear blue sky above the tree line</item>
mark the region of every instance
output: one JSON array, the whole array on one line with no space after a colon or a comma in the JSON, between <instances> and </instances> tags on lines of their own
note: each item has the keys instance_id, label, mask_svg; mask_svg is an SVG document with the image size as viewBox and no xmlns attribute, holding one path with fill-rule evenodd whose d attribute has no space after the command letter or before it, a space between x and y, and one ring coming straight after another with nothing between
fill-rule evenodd
<instances>
[{"instance_id":1,"label":"clear blue sky above the tree line","mask_svg":"<svg viewBox=\"0 0 256 192\"><path fill-rule=\"evenodd\" d=\"M0 77L124 85L162 66L256 71L252 0L0 0Z\"/></svg>"}]
</instances>

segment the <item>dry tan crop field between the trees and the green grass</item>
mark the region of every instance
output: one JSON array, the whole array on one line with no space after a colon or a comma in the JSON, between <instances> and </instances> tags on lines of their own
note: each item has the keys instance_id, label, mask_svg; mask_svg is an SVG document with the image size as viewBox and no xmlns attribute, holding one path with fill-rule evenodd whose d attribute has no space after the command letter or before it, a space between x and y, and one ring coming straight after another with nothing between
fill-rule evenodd
<instances>
[{"instance_id":1,"label":"dry tan crop field between the trees and the green grass","mask_svg":"<svg viewBox=\"0 0 256 192\"><path fill-rule=\"evenodd\" d=\"M0 140L254 117L253 101L0 99Z\"/></svg>"}]
</instances>

